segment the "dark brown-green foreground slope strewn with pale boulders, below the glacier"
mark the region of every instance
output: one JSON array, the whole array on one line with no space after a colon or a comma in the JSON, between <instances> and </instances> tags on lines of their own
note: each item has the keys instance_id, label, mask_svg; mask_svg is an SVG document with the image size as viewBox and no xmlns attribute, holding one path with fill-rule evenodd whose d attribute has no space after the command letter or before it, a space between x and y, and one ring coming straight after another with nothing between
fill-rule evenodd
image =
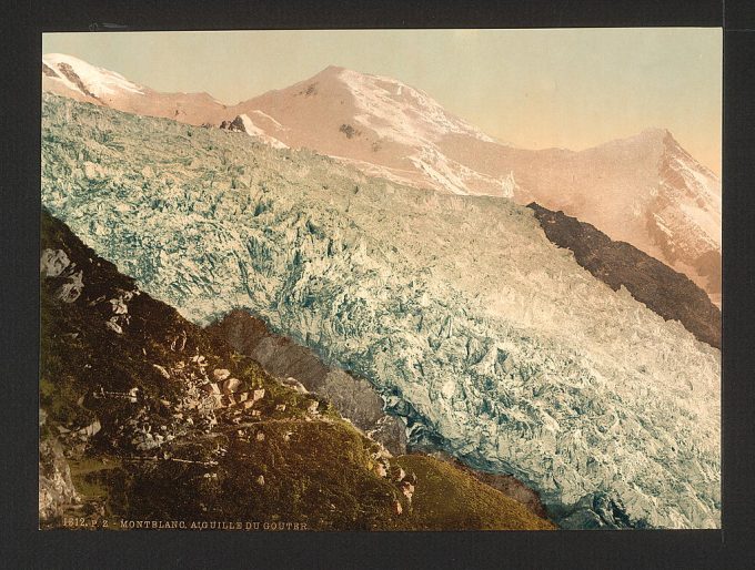
<instances>
[{"instance_id":1,"label":"dark brown-green foreground slope strewn with pale boulders, below the glacier","mask_svg":"<svg viewBox=\"0 0 755 570\"><path fill-rule=\"evenodd\" d=\"M41 527L77 516L98 528L553 528L442 461L393 457L328 401L139 291L47 213L41 248Z\"/></svg>"}]
</instances>

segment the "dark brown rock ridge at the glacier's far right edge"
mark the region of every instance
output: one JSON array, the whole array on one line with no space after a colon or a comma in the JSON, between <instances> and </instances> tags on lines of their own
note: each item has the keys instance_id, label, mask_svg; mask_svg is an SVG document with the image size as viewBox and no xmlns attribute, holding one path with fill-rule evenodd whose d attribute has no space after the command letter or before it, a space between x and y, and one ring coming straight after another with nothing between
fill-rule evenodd
<instances>
[{"instance_id":1,"label":"dark brown rock ridge at the glacier's far right edge","mask_svg":"<svg viewBox=\"0 0 755 570\"><path fill-rule=\"evenodd\" d=\"M678 320L698 340L721 348L721 311L688 277L563 212L552 212L535 202L527 207L535 213L547 238L571 250L576 262L593 276L614 291L623 285L666 320Z\"/></svg>"}]
</instances>

